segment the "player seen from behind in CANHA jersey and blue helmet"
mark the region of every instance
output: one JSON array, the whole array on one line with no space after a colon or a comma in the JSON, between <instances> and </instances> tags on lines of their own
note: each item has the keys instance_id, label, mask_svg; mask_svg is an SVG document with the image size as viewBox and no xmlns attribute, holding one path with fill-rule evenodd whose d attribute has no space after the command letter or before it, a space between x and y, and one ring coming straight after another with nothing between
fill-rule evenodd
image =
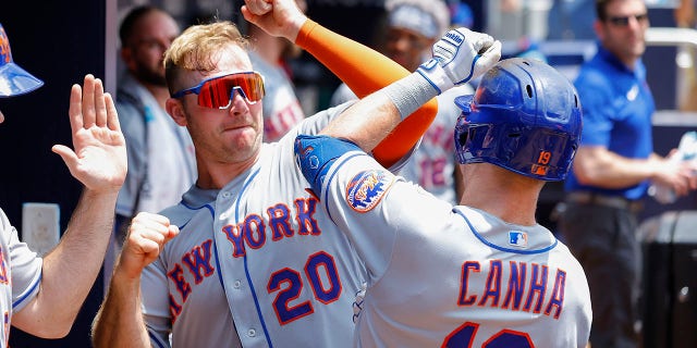
<instances>
[{"instance_id":1,"label":"player seen from behind in CANHA jersey and blue helmet","mask_svg":"<svg viewBox=\"0 0 697 348\"><path fill-rule=\"evenodd\" d=\"M348 109L323 135L296 140L318 204L367 269L356 346L585 347L584 271L535 221L540 189L566 176L579 142L576 90L540 61L509 59L455 102L456 207L366 156L378 134L343 132L368 117L394 122L394 111Z\"/></svg>"}]
</instances>

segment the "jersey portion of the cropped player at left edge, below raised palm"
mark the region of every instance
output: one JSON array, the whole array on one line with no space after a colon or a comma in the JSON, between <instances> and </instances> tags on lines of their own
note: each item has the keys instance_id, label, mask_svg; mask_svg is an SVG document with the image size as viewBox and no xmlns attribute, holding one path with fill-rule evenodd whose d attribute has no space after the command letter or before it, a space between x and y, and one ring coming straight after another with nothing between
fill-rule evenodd
<instances>
[{"instance_id":1,"label":"jersey portion of the cropped player at left edge, below raised palm","mask_svg":"<svg viewBox=\"0 0 697 348\"><path fill-rule=\"evenodd\" d=\"M20 241L17 231L0 210L0 347L8 346L12 312L30 302L39 291L42 260Z\"/></svg>"}]
</instances>

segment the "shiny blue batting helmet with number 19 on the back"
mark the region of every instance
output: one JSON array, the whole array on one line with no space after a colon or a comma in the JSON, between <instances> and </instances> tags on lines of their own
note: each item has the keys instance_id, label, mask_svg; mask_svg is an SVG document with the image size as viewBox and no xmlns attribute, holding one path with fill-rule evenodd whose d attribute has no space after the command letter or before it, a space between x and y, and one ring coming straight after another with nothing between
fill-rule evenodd
<instances>
[{"instance_id":1,"label":"shiny blue batting helmet with number 19 on the back","mask_svg":"<svg viewBox=\"0 0 697 348\"><path fill-rule=\"evenodd\" d=\"M541 181L562 181L578 148L580 101L566 77L546 63L500 61L474 96L455 98L460 163L487 162Z\"/></svg>"}]
</instances>

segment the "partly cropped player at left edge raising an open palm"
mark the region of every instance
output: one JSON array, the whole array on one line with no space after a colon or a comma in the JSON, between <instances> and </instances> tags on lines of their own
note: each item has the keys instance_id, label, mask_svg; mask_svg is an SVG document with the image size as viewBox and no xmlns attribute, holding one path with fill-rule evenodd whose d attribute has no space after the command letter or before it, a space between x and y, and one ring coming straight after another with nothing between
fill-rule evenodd
<instances>
[{"instance_id":1,"label":"partly cropped player at left edge raising an open palm","mask_svg":"<svg viewBox=\"0 0 697 348\"><path fill-rule=\"evenodd\" d=\"M0 100L41 85L14 63L0 25ZM126 175L125 140L113 100L93 75L72 87L69 116L74 149L56 145L52 151L85 188L61 241L38 257L0 210L0 347L8 346L11 325L45 338L65 336L101 269Z\"/></svg>"}]
</instances>

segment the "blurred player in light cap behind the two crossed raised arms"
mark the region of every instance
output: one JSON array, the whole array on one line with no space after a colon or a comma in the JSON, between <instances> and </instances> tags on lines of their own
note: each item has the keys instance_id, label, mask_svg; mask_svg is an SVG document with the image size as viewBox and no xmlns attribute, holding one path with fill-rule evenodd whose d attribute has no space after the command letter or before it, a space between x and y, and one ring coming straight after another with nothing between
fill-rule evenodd
<instances>
[{"instance_id":1,"label":"blurred player in light cap behind the two crossed raised arms","mask_svg":"<svg viewBox=\"0 0 697 348\"><path fill-rule=\"evenodd\" d=\"M442 0L388 0L387 24L378 51L407 71L416 69L431 57L431 47L450 25L450 10ZM438 96L438 114L424 135L418 150L400 171L404 178L419 184L427 191L457 203L462 178L455 166L454 140L448 132L457 120L456 96L472 94L469 84L457 86ZM331 104L337 105L356 96L345 84L339 86Z\"/></svg>"}]
</instances>

